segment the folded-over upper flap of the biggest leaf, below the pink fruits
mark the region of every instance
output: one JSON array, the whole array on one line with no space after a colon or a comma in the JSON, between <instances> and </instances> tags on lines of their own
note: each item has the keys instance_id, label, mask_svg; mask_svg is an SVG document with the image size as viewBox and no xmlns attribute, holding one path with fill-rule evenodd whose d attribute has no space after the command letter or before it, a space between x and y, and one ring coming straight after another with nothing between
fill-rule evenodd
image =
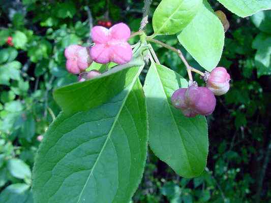
<instances>
[{"instance_id":1,"label":"folded-over upper flap of the biggest leaf, below the pink fruits","mask_svg":"<svg viewBox=\"0 0 271 203\"><path fill-rule=\"evenodd\" d=\"M90 106L97 107L127 87L138 74L139 65L142 64L142 59L135 59L127 64L115 66L92 80L56 89L53 96L66 113L84 111Z\"/></svg>"}]
</instances>

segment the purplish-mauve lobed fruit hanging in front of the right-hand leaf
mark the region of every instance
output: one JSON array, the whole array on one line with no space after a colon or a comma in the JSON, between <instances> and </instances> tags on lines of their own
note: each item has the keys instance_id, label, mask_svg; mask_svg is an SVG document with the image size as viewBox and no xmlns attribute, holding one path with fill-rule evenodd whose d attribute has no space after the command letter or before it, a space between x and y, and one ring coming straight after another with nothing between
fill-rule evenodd
<instances>
[{"instance_id":1,"label":"purplish-mauve lobed fruit hanging in front of the right-hand leaf","mask_svg":"<svg viewBox=\"0 0 271 203\"><path fill-rule=\"evenodd\" d=\"M172 105L180 109L186 117L212 114L216 107L216 97L206 87L191 85L177 89L171 96Z\"/></svg>"}]
</instances>

